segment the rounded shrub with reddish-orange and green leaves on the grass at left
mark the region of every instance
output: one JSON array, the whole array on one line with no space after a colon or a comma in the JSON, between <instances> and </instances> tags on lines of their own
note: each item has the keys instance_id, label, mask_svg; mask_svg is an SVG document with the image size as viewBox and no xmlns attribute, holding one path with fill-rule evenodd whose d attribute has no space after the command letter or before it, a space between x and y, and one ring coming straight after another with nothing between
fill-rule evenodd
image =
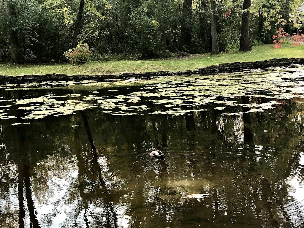
<instances>
[{"instance_id":1,"label":"rounded shrub with reddish-orange and green leaves on the grass at left","mask_svg":"<svg viewBox=\"0 0 304 228\"><path fill-rule=\"evenodd\" d=\"M85 63L90 60L91 50L87 43L79 43L76 48L64 52L64 55L72 64Z\"/></svg>"}]
</instances>

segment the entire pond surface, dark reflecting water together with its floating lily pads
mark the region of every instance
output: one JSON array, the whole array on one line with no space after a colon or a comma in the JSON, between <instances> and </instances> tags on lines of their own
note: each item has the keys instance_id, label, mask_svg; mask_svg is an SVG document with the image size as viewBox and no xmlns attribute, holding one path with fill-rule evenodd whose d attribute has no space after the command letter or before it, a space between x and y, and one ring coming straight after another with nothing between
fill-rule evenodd
<instances>
[{"instance_id":1,"label":"entire pond surface, dark reflecting water together with its floating lily pads","mask_svg":"<svg viewBox=\"0 0 304 228\"><path fill-rule=\"evenodd\" d=\"M303 80L2 85L0 227L304 227Z\"/></svg>"}]
</instances>

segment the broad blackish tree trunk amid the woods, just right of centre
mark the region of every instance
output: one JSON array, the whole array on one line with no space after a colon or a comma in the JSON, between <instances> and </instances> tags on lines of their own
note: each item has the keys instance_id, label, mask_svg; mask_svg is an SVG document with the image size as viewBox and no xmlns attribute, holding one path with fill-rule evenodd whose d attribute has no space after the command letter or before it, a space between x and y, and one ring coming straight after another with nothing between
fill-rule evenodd
<instances>
[{"instance_id":1,"label":"broad blackish tree trunk amid the woods, just right of centre","mask_svg":"<svg viewBox=\"0 0 304 228\"><path fill-rule=\"evenodd\" d=\"M181 45L188 48L191 41L192 0L184 0L182 13L185 20L181 26Z\"/></svg>"}]
</instances>

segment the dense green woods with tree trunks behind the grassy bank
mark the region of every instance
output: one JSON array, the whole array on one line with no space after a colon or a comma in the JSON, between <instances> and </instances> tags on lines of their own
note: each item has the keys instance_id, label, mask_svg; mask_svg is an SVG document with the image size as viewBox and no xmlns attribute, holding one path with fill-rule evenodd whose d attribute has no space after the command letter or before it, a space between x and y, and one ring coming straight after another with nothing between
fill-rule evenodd
<instances>
[{"instance_id":1,"label":"dense green woods with tree trunks behind the grassy bank","mask_svg":"<svg viewBox=\"0 0 304 228\"><path fill-rule=\"evenodd\" d=\"M95 60L214 54L272 43L297 0L0 0L0 61L62 62L86 43ZM298 20L299 22L299 20ZM86 46L87 47L87 46Z\"/></svg>"}]
</instances>

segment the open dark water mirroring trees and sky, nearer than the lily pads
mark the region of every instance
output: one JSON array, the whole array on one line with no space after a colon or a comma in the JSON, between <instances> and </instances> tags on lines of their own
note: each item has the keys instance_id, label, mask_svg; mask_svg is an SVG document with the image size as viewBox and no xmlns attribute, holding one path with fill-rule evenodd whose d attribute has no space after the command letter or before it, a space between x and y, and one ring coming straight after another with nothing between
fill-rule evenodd
<instances>
[{"instance_id":1,"label":"open dark water mirroring trees and sky, nearer than the lily pads","mask_svg":"<svg viewBox=\"0 0 304 228\"><path fill-rule=\"evenodd\" d=\"M238 115L222 115L211 102L196 107L209 111L183 116L113 116L92 109L20 126L1 119L0 224L301 227L301 102L285 99L264 112L226 106ZM18 116L18 109L11 112ZM152 145L166 161L149 156ZM193 193L209 197L186 197Z\"/></svg>"}]
</instances>

